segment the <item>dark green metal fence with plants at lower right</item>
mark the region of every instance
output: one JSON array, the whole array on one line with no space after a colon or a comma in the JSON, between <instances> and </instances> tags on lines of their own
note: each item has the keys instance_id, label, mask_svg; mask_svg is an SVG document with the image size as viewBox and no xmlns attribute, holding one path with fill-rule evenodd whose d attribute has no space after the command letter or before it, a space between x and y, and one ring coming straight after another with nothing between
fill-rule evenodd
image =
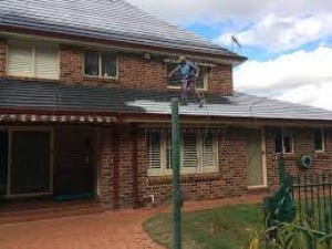
<instances>
[{"instance_id":1,"label":"dark green metal fence with plants at lower right","mask_svg":"<svg viewBox=\"0 0 332 249\"><path fill-rule=\"evenodd\" d=\"M289 175L282 156L278 157L277 165L280 187L263 203L267 227L292 224L307 235L308 249L315 248L322 239L326 248L332 248L332 170Z\"/></svg>"}]
</instances>

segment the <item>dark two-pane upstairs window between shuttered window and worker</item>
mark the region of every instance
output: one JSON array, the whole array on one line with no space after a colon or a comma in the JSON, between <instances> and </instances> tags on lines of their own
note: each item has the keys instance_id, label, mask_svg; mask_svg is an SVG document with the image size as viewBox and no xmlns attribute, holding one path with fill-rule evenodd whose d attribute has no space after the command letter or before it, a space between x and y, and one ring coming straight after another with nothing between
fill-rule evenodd
<instances>
[{"instance_id":1,"label":"dark two-pane upstairs window between shuttered window and worker","mask_svg":"<svg viewBox=\"0 0 332 249\"><path fill-rule=\"evenodd\" d=\"M108 51L85 51L84 74L98 77L117 77L116 54Z\"/></svg>"}]
</instances>

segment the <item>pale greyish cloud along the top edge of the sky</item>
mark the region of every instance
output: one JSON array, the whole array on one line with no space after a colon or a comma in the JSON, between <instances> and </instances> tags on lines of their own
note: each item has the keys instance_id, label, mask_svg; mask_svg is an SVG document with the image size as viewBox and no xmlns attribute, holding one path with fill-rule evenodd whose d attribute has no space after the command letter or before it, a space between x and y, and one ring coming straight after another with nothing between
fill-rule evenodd
<instances>
[{"instance_id":1,"label":"pale greyish cloud along the top edge of the sky","mask_svg":"<svg viewBox=\"0 0 332 249\"><path fill-rule=\"evenodd\" d=\"M267 14L332 11L331 0L126 0L147 12L173 22L259 20Z\"/></svg>"}]
</instances>

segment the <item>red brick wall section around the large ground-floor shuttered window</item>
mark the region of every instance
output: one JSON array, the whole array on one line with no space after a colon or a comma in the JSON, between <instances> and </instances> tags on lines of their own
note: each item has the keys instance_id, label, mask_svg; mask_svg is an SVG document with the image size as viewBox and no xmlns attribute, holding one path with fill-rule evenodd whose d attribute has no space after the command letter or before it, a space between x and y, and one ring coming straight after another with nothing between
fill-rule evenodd
<instances>
[{"instance_id":1,"label":"red brick wall section around the large ground-floor shuttered window","mask_svg":"<svg viewBox=\"0 0 332 249\"><path fill-rule=\"evenodd\" d=\"M225 135L226 134L226 135ZM231 128L219 134L219 172L183 175L181 191L186 200L215 199L239 196L246 185L246 139L245 131ZM225 136L224 136L225 135ZM145 135L138 135L138 191L143 204L151 203L154 195L156 204L172 199L172 176L148 177Z\"/></svg>"}]
</instances>

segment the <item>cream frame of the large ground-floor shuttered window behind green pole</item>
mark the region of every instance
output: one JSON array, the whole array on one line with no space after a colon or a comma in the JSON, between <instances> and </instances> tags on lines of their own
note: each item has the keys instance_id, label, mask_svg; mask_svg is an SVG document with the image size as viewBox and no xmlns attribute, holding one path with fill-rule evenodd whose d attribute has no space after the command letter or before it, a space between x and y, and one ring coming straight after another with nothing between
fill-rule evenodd
<instances>
[{"instance_id":1,"label":"cream frame of the large ground-floor shuttered window behind green pole","mask_svg":"<svg viewBox=\"0 0 332 249\"><path fill-rule=\"evenodd\" d=\"M148 133L147 133L148 134ZM205 136L204 133L195 133L196 134L196 146L197 146L197 166L196 167L183 167L184 162L184 146L183 146L183 134L180 136L180 174L204 174L204 173L215 173L219 172L218 166L218 137L212 136L212 160L214 165L210 167L204 167L203 165L203 138ZM147 135L149 136L149 134ZM148 139L148 137L147 137ZM168 142L167 142L168 139ZM160 131L160 167L159 168L151 168L151 162L148 158L148 149L147 148L147 163L148 163L148 169L147 175L148 176L163 176L163 175L172 175L173 169L170 168L170 165L167 165L167 146L170 146L170 136L169 133ZM172 164L169 159L169 164Z\"/></svg>"}]
</instances>

